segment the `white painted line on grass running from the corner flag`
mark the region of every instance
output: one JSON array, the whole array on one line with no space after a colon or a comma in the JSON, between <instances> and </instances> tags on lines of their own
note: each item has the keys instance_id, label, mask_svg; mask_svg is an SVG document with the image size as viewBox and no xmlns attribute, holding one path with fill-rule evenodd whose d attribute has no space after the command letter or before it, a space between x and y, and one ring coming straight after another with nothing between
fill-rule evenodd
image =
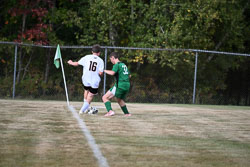
<instances>
[{"instance_id":1,"label":"white painted line on grass running from the corner flag","mask_svg":"<svg viewBox=\"0 0 250 167\"><path fill-rule=\"evenodd\" d=\"M98 145L95 142L94 137L90 134L85 122L79 117L78 113L76 112L75 108L72 105L69 105L68 108L72 112L76 120L78 121L78 124L81 127L83 134L87 138L88 144L91 147L94 153L94 156L98 160L99 167L109 167L106 158L102 155Z\"/></svg>"}]
</instances>

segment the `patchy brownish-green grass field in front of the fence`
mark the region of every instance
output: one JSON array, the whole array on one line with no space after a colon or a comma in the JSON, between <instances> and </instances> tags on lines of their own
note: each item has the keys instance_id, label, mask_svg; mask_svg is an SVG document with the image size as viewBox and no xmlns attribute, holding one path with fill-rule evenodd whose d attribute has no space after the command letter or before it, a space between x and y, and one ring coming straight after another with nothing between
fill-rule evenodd
<instances>
[{"instance_id":1,"label":"patchy brownish-green grass field in front of the fence","mask_svg":"<svg viewBox=\"0 0 250 167\"><path fill-rule=\"evenodd\" d=\"M66 102L0 100L0 167L98 166ZM72 105L78 110L80 102ZM128 104L83 115L110 167L249 167L250 107Z\"/></svg>"}]
</instances>

